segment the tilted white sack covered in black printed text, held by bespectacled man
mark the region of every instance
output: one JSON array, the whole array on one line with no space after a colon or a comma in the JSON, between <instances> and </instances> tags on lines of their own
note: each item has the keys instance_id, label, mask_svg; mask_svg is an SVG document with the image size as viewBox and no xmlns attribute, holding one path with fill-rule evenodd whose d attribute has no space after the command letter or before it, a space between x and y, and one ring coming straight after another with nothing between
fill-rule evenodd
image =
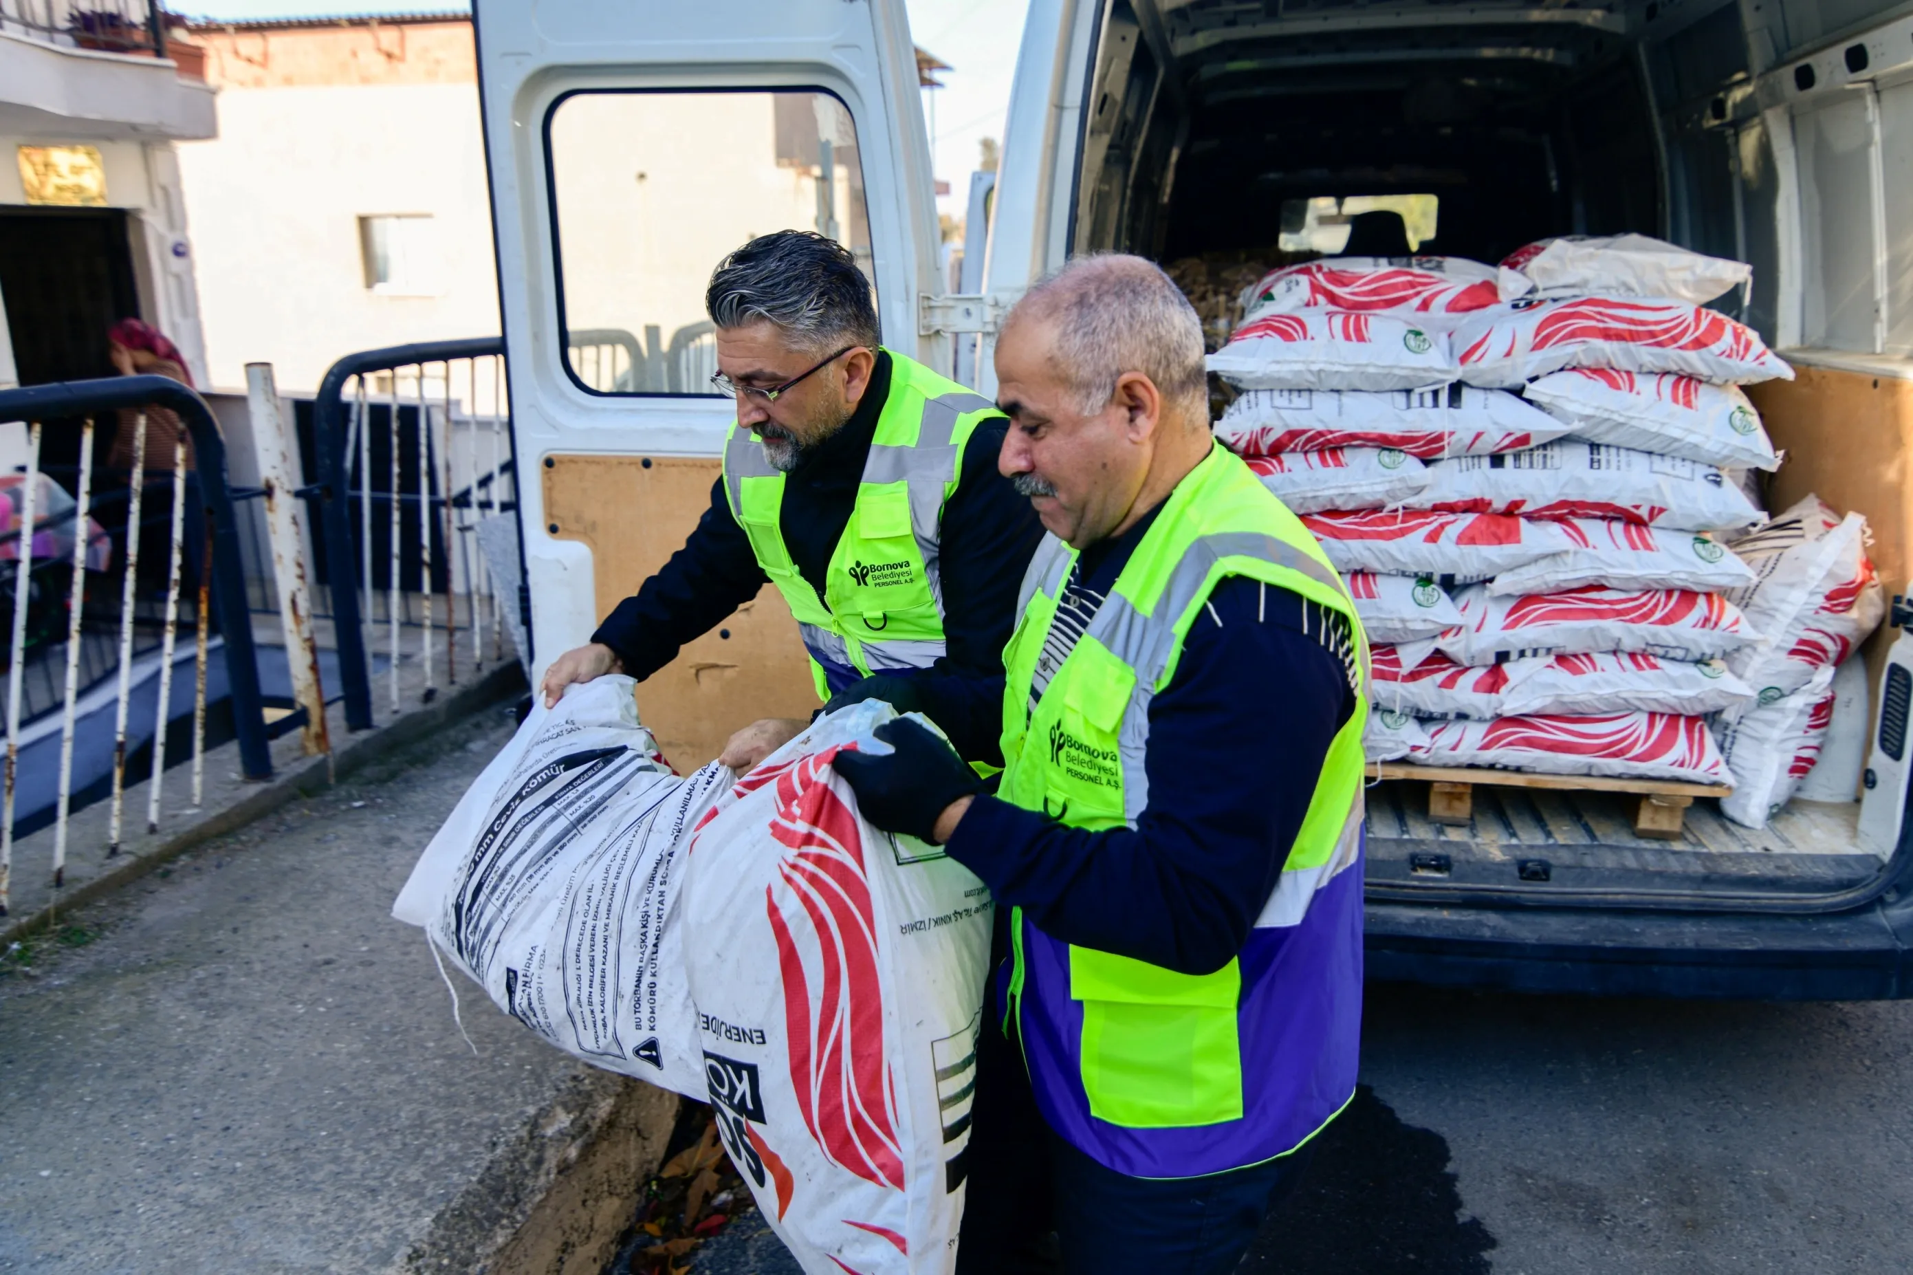
<instances>
[{"instance_id":1,"label":"tilted white sack covered in black printed text, held by bespectacled man","mask_svg":"<svg viewBox=\"0 0 1913 1275\"><path fill-rule=\"evenodd\" d=\"M564 1053L704 1095L685 980L683 839L725 794L715 762L671 773L637 683L534 697L518 733L419 856L392 915Z\"/></svg>"}]
</instances>

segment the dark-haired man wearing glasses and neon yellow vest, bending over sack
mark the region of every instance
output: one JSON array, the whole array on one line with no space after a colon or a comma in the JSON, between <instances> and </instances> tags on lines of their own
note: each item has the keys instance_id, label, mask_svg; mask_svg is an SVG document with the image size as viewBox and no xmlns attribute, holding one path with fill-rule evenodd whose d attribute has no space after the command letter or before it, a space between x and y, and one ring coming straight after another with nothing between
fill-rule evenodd
<instances>
[{"instance_id":1,"label":"dark-haired man wearing glasses and neon yellow vest, bending over sack","mask_svg":"<svg viewBox=\"0 0 1913 1275\"><path fill-rule=\"evenodd\" d=\"M545 672L643 682L687 641L775 584L798 618L825 701L880 693L918 708L972 762L995 762L1000 720L972 682L1002 676L1023 567L1043 536L997 471L995 406L878 345L855 258L811 232L752 239L706 291L712 385L737 398L723 475L685 548ZM970 720L970 718L978 720ZM796 735L767 718L719 760L744 770Z\"/></svg>"}]
</instances>

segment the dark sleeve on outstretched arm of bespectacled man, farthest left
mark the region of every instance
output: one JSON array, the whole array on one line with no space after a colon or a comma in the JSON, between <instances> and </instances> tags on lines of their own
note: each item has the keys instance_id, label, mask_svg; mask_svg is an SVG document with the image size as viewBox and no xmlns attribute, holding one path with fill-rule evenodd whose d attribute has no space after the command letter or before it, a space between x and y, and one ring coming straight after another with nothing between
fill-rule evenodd
<instances>
[{"instance_id":1,"label":"dark sleeve on outstretched arm of bespectacled man, farthest left","mask_svg":"<svg viewBox=\"0 0 1913 1275\"><path fill-rule=\"evenodd\" d=\"M731 517L719 477L712 482L710 509L685 548L639 586L637 597L618 603L591 641L616 651L624 672L643 682L677 659L687 641L756 597L765 580L750 538Z\"/></svg>"}]
</instances>

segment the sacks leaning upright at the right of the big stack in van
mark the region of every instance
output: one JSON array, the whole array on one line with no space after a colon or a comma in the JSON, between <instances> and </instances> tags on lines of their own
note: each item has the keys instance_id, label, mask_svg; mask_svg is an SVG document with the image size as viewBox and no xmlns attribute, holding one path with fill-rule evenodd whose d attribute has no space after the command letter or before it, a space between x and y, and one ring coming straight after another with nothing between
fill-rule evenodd
<instances>
[{"instance_id":1,"label":"sacks leaning upright at the right of the big stack in van","mask_svg":"<svg viewBox=\"0 0 1913 1275\"><path fill-rule=\"evenodd\" d=\"M1880 624L1886 601L1867 557L1867 521L1808 496L1733 542L1758 576L1731 593L1760 639L1729 666L1754 691L1716 722L1733 770L1722 814L1766 827L1814 770L1833 724L1833 672Z\"/></svg>"}]
</instances>

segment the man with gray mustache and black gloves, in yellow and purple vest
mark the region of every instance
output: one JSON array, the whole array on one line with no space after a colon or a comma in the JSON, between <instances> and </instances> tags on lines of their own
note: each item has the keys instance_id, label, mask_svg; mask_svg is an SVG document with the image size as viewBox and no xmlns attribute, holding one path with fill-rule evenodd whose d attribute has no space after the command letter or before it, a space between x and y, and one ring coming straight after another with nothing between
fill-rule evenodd
<instances>
[{"instance_id":1,"label":"man with gray mustache and black gloves, in yellow and purple vest","mask_svg":"<svg viewBox=\"0 0 1913 1275\"><path fill-rule=\"evenodd\" d=\"M956 1269L1234 1271L1354 1095L1368 647L1320 546L1209 431L1201 324L1136 257L997 343L999 465L1048 536L985 794L913 720L832 766L989 884Z\"/></svg>"}]
</instances>

